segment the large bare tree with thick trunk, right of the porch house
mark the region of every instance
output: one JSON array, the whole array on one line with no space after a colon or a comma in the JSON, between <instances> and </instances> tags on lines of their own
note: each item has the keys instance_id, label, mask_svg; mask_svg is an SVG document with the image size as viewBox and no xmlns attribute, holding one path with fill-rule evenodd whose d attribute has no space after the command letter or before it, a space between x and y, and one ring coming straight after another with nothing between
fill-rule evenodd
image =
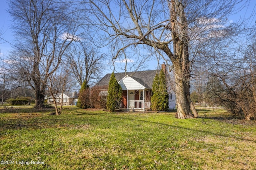
<instances>
[{"instance_id":1,"label":"large bare tree with thick trunk, right of the porch house","mask_svg":"<svg viewBox=\"0 0 256 170\"><path fill-rule=\"evenodd\" d=\"M176 84L177 117L197 117L190 100L195 49L214 45L227 33L227 18L240 0L88 0L86 9L102 38L112 42L114 59L137 47L156 51L172 65ZM229 34L232 34L230 31ZM99 36L100 37L100 36ZM195 55L191 55L194 53Z\"/></svg>"}]
</instances>

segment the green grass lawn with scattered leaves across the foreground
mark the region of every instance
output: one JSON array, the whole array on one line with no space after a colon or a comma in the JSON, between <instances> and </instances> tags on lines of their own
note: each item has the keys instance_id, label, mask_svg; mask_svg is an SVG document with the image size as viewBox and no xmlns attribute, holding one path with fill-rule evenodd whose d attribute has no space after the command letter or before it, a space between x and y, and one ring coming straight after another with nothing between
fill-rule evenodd
<instances>
[{"instance_id":1,"label":"green grass lawn with scattered leaves across the foreground","mask_svg":"<svg viewBox=\"0 0 256 170\"><path fill-rule=\"evenodd\" d=\"M14 161L0 169L256 169L255 122L221 109L183 120L174 112L31 110L0 111L0 160Z\"/></svg>"}]
</instances>

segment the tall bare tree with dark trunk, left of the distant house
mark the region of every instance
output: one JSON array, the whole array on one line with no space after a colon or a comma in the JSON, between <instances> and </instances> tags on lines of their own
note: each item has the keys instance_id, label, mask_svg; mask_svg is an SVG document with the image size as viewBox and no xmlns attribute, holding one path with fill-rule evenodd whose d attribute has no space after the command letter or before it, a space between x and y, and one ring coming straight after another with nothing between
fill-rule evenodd
<instances>
[{"instance_id":1,"label":"tall bare tree with dark trunk, left of the distant house","mask_svg":"<svg viewBox=\"0 0 256 170\"><path fill-rule=\"evenodd\" d=\"M36 108L44 106L48 78L62 61L67 47L76 41L78 23L70 4L61 0L10 0L8 12L17 35L10 55L10 71L35 90Z\"/></svg>"}]
</instances>

